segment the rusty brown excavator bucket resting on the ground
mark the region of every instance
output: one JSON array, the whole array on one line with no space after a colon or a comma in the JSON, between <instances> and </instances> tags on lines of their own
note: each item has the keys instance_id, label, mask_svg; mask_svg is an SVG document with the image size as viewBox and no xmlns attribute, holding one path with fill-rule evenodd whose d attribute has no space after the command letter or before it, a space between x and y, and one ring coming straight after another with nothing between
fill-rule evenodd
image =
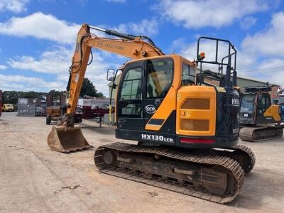
<instances>
[{"instance_id":1,"label":"rusty brown excavator bucket resting on the ground","mask_svg":"<svg viewBox=\"0 0 284 213\"><path fill-rule=\"evenodd\" d=\"M84 138L80 126L53 126L48 134L48 146L51 150L62 153L93 147Z\"/></svg>"}]
</instances>

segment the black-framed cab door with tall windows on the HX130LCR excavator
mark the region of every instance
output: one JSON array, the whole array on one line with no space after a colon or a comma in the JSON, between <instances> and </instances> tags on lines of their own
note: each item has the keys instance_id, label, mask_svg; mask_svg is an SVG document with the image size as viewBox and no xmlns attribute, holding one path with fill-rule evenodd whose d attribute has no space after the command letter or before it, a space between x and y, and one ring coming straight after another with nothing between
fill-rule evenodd
<instances>
[{"instance_id":1,"label":"black-framed cab door with tall windows on the HX130LCR excavator","mask_svg":"<svg viewBox=\"0 0 284 213\"><path fill-rule=\"evenodd\" d=\"M143 60L131 62L121 75L116 102L118 129L143 130Z\"/></svg>"}]
</instances>

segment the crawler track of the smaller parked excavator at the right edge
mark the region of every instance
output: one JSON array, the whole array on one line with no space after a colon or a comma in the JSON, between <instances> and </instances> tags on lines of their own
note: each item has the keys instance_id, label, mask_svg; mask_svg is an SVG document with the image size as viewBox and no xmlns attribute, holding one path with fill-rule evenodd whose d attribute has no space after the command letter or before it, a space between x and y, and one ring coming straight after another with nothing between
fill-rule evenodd
<instances>
[{"instance_id":1,"label":"crawler track of the smaller parked excavator at the right edge","mask_svg":"<svg viewBox=\"0 0 284 213\"><path fill-rule=\"evenodd\" d=\"M276 126L243 127L239 132L239 137L241 138L242 141L250 141L250 142L268 141L271 139L282 138L282 135L273 136L273 137L268 136L267 138L253 138L253 131L258 131L261 129L275 129L275 131L278 131L279 129L282 130L281 127L279 129L278 128L279 127Z\"/></svg>"}]
</instances>

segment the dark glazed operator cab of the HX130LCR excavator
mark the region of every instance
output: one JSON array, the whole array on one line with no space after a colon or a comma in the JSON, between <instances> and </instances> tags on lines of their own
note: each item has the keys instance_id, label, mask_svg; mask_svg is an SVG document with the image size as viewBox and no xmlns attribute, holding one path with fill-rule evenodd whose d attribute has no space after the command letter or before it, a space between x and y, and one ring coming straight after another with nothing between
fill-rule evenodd
<instances>
[{"instance_id":1,"label":"dark glazed operator cab of the HX130LCR excavator","mask_svg":"<svg viewBox=\"0 0 284 213\"><path fill-rule=\"evenodd\" d=\"M158 57L125 65L116 95L118 129L145 129L173 84L174 60Z\"/></svg>"}]
</instances>

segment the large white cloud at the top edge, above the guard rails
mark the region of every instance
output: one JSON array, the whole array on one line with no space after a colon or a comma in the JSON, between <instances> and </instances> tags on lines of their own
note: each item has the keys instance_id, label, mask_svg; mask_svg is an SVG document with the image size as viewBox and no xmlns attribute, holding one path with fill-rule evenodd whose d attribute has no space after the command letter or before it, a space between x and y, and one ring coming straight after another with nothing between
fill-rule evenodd
<instances>
[{"instance_id":1,"label":"large white cloud at the top edge, above the guard rails","mask_svg":"<svg viewBox=\"0 0 284 213\"><path fill-rule=\"evenodd\" d=\"M163 0L154 9L168 21L181 23L185 28L219 28L251 13L266 11L270 4L273 1Z\"/></svg>"}]
</instances>

